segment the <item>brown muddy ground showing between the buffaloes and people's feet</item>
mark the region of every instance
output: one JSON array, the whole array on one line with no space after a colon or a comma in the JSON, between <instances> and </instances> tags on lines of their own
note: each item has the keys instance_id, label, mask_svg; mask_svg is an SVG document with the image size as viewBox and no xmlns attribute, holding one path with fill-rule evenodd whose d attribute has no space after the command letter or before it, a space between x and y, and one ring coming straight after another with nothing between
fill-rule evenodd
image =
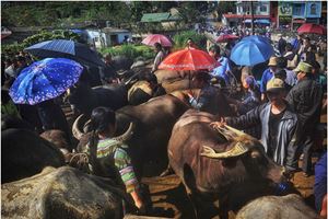
<instances>
[{"instance_id":1,"label":"brown muddy ground showing between the buffaloes and people's feet","mask_svg":"<svg viewBox=\"0 0 328 219\"><path fill-rule=\"evenodd\" d=\"M68 106L63 107L63 111L68 117L70 124L72 124L72 114ZM326 123L326 115L321 116L321 122ZM316 162L317 158L313 159ZM300 161L300 166L302 161ZM156 165L156 164L155 164ZM151 171L152 164L145 166L145 172ZM306 203L314 208L314 175L309 177L303 176L302 172L298 172L292 178L295 187L300 191ZM143 177L142 183L149 187L153 210L151 216L165 217L165 218L186 218L194 219L194 210L191 203L189 201L185 188L180 183L180 180L175 175L168 175L165 177ZM218 204L214 204L218 207ZM209 209L209 215L212 218L218 218L216 209ZM233 219L234 214L230 212L230 219Z\"/></svg>"}]
</instances>

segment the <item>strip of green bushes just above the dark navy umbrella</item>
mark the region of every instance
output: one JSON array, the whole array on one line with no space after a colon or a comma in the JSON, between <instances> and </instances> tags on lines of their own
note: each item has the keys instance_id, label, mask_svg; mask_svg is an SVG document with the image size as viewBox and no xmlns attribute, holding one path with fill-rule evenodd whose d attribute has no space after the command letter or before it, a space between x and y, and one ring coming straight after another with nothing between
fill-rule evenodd
<instances>
[{"instance_id":1,"label":"strip of green bushes just above the dark navy umbrella","mask_svg":"<svg viewBox=\"0 0 328 219\"><path fill-rule=\"evenodd\" d=\"M54 32L44 31L39 34L35 34L33 36L25 38L21 44L1 45L1 51L2 54L5 55L14 55L28 46L45 41L51 41L51 39L80 41L80 36L69 31L54 31Z\"/></svg>"}]
</instances>

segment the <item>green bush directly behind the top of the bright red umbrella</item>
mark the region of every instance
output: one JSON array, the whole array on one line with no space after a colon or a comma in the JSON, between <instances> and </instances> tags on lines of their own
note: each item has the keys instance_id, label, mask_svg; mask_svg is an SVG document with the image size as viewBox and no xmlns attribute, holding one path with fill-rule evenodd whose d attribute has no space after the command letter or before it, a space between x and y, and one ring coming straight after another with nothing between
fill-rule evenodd
<instances>
[{"instance_id":1,"label":"green bush directly behind the top of the bright red umbrella","mask_svg":"<svg viewBox=\"0 0 328 219\"><path fill-rule=\"evenodd\" d=\"M207 48L207 38L206 36L196 33L195 31L185 31L176 34L173 37L173 41L175 43L174 50L178 50L186 47L186 42L188 38L191 38L195 44L200 48L204 49Z\"/></svg>"}]
</instances>

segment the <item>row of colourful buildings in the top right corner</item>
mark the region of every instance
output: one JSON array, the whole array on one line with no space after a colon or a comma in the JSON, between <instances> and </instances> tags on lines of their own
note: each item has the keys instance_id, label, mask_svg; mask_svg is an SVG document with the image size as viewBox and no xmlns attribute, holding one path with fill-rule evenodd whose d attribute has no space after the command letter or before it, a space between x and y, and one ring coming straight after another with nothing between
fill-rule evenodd
<instances>
[{"instance_id":1,"label":"row of colourful buildings in the top right corner","mask_svg":"<svg viewBox=\"0 0 328 219\"><path fill-rule=\"evenodd\" d=\"M327 1L253 1L253 11L255 24L297 28L303 23L327 23ZM251 2L237 1L236 14L223 14L222 23L251 23Z\"/></svg>"}]
</instances>

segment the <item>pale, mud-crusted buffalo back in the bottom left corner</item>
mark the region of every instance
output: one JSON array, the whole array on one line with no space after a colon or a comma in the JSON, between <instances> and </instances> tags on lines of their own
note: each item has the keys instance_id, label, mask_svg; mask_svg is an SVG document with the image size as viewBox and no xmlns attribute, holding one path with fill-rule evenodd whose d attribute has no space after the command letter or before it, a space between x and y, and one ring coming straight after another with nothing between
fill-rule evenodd
<instances>
[{"instance_id":1,"label":"pale, mud-crusted buffalo back in the bottom left corner","mask_svg":"<svg viewBox=\"0 0 328 219\"><path fill-rule=\"evenodd\" d=\"M1 185L3 218L119 219L124 201L132 206L113 181L68 166Z\"/></svg>"}]
</instances>

